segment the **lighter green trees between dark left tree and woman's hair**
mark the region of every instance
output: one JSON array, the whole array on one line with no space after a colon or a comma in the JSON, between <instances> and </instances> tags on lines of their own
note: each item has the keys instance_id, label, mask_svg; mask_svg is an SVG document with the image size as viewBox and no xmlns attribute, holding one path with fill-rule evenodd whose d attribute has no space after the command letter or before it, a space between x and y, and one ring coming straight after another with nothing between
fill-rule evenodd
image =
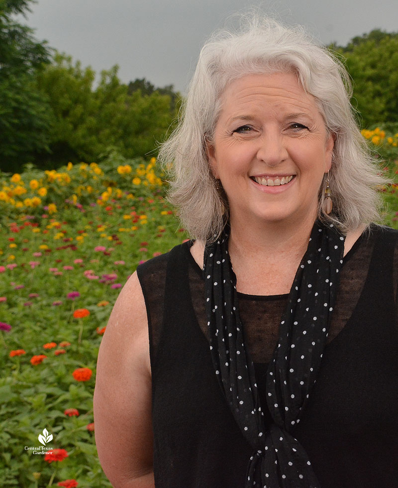
<instances>
[{"instance_id":1,"label":"lighter green trees between dark left tree and woman's hair","mask_svg":"<svg viewBox=\"0 0 398 488\"><path fill-rule=\"evenodd\" d=\"M175 102L159 90L131 91L117 77L117 66L102 71L97 88L95 72L56 54L54 63L38 74L53 116L49 134L51 154L36 164L57 167L65 160L100 160L109 148L133 158L156 152L175 118ZM45 167L45 166L44 166Z\"/></svg>"}]
</instances>

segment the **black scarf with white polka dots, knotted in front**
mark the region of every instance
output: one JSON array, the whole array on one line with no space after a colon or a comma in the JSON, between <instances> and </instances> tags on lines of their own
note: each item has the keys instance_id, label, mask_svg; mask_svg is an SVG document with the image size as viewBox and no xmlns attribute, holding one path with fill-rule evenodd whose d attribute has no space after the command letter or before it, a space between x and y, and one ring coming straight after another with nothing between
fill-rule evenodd
<instances>
[{"instance_id":1,"label":"black scarf with white polka dots, knotted in front","mask_svg":"<svg viewBox=\"0 0 398 488\"><path fill-rule=\"evenodd\" d=\"M314 224L298 267L279 340L267 372L267 431L254 366L245 349L228 230L206 246L203 273L210 351L215 374L243 435L253 448L246 488L320 488L303 447L291 434L315 383L333 310L344 237Z\"/></svg>"}]
</instances>

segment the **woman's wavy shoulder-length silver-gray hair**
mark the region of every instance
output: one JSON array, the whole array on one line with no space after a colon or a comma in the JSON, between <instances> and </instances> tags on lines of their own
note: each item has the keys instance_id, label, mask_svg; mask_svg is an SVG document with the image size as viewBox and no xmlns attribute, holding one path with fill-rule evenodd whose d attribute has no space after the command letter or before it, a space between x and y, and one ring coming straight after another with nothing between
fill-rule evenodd
<instances>
[{"instance_id":1,"label":"woman's wavy shoulder-length silver-gray hair","mask_svg":"<svg viewBox=\"0 0 398 488\"><path fill-rule=\"evenodd\" d=\"M326 130L334 137L329 174L333 212L327 215L323 211L322 186L318 218L333 222L344 233L380 219L378 187L386 180L356 123L347 71L302 27L251 17L238 30L215 33L204 45L180 122L160 148L159 159L171 176L169 200L191 237L212 241L228 221L227 200L211 174L205 151L225 88L247 74L292 71L315 98Z\"/></svg>"}]
</instances>

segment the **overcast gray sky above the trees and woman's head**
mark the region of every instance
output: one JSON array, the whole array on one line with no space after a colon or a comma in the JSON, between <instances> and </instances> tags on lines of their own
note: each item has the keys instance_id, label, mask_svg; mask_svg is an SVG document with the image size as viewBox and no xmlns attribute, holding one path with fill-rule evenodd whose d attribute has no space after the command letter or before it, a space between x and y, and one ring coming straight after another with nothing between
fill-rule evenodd
<instances>
[{"instance_id":1,"label":"overcast gray sky above the trees and woman's head","mask_svg":"<svg viewBox=\"0 0 398 488\"><path fill-rule=\"evenodd\" d=\"M206 37L253 5L306 26L323 43L398 31L397 0L38 0L25 23L83 66L100 72L118 64L125 83L145 77L184 92Z\"/></svg>"}]
</instances>

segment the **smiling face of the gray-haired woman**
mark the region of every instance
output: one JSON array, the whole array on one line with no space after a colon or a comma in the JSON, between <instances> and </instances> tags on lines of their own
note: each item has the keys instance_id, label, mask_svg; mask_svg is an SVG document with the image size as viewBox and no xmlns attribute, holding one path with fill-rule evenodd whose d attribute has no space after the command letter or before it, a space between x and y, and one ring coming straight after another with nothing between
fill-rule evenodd
<instances>
[{"instance_id":1,"label":"smiling face of the gray-haired woman","mask_svg":"<svg viewBox=\"0 0 398 488\"><path fill-rule=\"evenodd\" d=\"M207 155L231 223L314 220L333 138L297 75L246 75L228 85L221 104Z\"/></svg>"}]
</instances>

